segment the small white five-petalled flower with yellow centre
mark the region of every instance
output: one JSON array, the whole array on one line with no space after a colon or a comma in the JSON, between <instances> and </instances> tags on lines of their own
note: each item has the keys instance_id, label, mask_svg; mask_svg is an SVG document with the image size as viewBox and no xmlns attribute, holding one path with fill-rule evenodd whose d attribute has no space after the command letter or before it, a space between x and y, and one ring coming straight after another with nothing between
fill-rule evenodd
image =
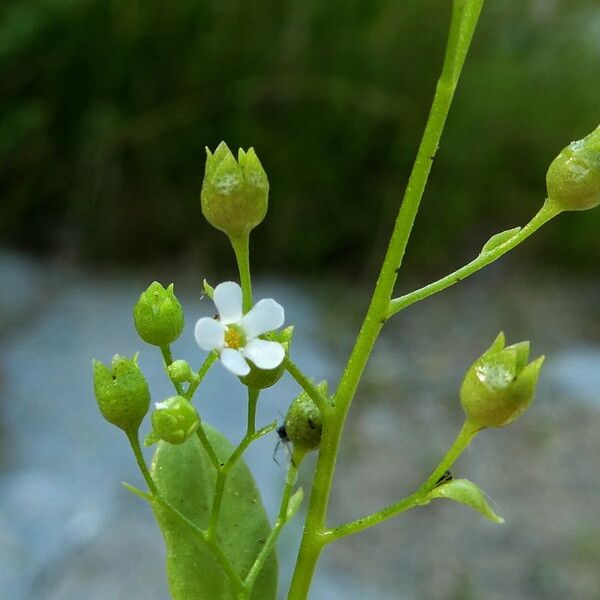
<instances>
[{"instance_id":1,"label":"small white five-petalled flower with yellow centre","mask_svg":"<svg viewBox=\"0 0 600 600\"><path fill-rule=\"evenodd\" d=\"M196 323L194 335L203 350L215 350L223 365L235 375L250 373L252 361L259 369L278 367L285 356L277 342L259 335L283 325L283 307L272 298L260 300L245 315L242 313L242 288L233 281L220 283L213 300L219 319L204 317Z\"/></svg>"}]
</instances>

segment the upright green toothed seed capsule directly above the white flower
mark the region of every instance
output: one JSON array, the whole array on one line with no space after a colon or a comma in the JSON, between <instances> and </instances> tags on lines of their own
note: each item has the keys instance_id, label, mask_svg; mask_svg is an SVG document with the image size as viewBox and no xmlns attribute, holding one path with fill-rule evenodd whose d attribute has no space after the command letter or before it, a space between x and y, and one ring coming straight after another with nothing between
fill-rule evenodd
<instances>
[{"instance_id":1,"label":"upright green toothed seed capsule directly above the white flower","mask_svg":"<svg viewBox=\"0 0 600 600\"><path fill-rule=\"evenodd\" d=\"M225 142L215 153L206 149L202 183L202 213L230 238L247 236L267 213L269 182L253 148L238 151L238 160Z\"/></svg>"}]
</instances>

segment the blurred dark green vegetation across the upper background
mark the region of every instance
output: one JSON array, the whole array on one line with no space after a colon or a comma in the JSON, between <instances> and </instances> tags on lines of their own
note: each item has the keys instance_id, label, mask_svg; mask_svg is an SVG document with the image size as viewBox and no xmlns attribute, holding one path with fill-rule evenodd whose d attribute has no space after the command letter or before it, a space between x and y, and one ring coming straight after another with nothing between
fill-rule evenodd
<instances>
[{"instance_id":1,"label":"blurred dark green vegetation across the upper background","mask_svg":"<svg viewBox=\"0 0 600 600\"><path fill-rule=\"evenodd\" d=\"M355 272L389 234L450 4L4 3L0 240L95 262L218 259L199 190L204 146L225 139L269 173L262 264ZM552 158L600 121L599 74L597 0L488 0L410 265L456 264L528 219ZM600 211L562 217L529 253L596 267L599 229Z\"/></svg>"}]
</instances>

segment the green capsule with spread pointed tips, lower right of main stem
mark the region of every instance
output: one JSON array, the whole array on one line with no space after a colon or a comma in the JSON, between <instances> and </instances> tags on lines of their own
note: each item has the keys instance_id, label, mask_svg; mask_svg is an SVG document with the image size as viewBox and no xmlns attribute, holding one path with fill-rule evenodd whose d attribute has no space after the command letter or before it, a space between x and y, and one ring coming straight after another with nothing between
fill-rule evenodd
<instances>
[{"instance_id":1,"label":"green capsule with spread pointed tips, lower right of main stem","mask_svg":"<svg viewBox=\"0 0 600 600\"><path fill-rule=\"evenodd\" d=\"M473 425L502 427L515 421L532 403L544 357L527 364L529 342L504 346L501 332L469 368L460 402Z\"/></svg>"}]
</instances>

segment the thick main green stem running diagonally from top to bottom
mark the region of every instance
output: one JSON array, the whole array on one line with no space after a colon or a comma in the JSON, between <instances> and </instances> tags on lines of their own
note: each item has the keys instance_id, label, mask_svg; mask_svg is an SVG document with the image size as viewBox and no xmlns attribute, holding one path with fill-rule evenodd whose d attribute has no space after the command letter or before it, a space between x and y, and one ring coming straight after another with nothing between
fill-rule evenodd
<instances>
[{"instance_id":1,"label":"thick main green stem running diagonally from top to bottom","mask_svg":"<svg viewBox=\"0 0 600 600\"><path fill-rule=\"evenodd\" d=\"M377 336L387 319L390 298L406 245L437 152L458 77L475 30L483 0L455 0L446 57L436 86L425 132L406 187L404 199L375 285L371 303L335 394L335 408L324 418L315 479L310 495L304 535L288 600L305 600L317 561L327 542L326 513L336 458L350 404Z\"/></svg>"}]
</instances>

